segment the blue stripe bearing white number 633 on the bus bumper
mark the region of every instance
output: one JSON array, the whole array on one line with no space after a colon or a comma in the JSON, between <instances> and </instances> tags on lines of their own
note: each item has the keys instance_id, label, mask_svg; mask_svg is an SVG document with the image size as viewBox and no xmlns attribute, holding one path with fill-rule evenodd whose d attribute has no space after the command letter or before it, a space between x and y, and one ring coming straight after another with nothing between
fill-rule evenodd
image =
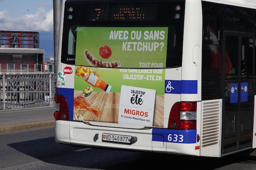
<instances>
[{"instance_id":1,"label":"blue stripe bearing white number 633 on the bus bumper","mask_svg":"<svg viewBox=\"0 0 256 170\"><path fill-rule=\"evenodd\" d=\"M172 143L196 143L196 129L174 130L153 128L152 141Z\"/></svg>"}]
</instances>

